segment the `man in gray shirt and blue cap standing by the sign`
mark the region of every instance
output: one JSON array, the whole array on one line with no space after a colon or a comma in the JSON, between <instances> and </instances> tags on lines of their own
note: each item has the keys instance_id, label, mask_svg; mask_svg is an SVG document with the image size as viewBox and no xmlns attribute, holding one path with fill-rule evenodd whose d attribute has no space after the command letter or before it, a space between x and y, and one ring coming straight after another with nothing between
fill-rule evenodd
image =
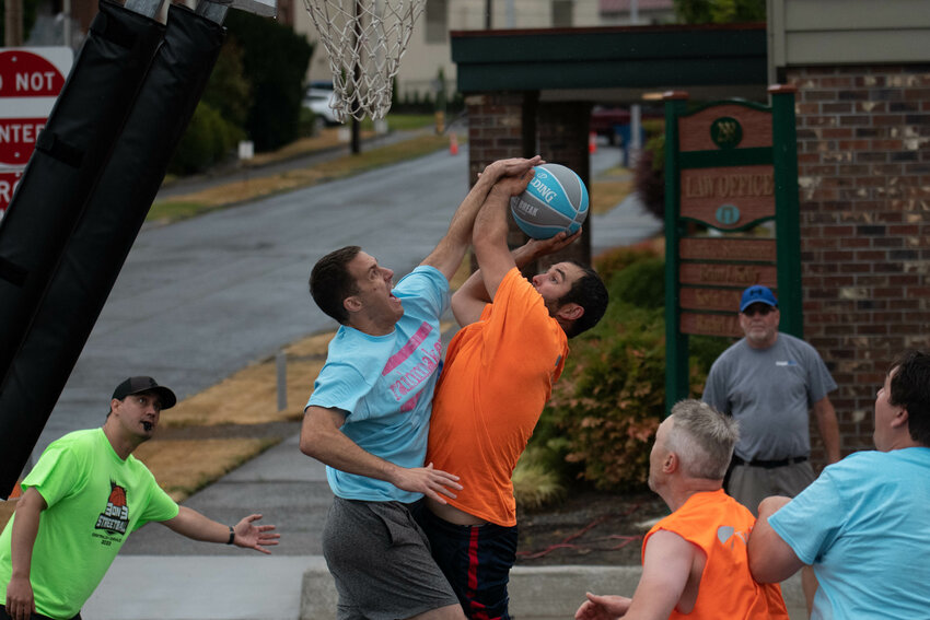
<instances>
[{"instance_id":1,"label":"man in gray shirt and blue cap standing by the sign","mask_svg":"<svg viewBox=\"0 0 930 620\"><path fill-rule=\"evenodd\" d=\"M726 492L757 514L769 495L793 498L813 480L809 413L827 460L839 460L839 430L827 394L836 389L813 347L778 331L778 300L749 286L740 303L745 338L713 363L704 401L740 422Z\"/></svg>"}]
</instances>

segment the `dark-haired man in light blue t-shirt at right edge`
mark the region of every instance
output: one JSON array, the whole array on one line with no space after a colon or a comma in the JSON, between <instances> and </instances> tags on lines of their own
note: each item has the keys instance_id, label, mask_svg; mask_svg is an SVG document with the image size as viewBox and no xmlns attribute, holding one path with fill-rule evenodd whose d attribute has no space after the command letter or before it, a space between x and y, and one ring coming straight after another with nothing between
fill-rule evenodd
<instances>
[{"instance_id":1,"label":"dark-haired man in light blue t-shirt at right edge","mask_svg":"<svg viewBox=\"0 0 930 620\"><path fill-rule=\"evenodd\" d=\"M877 452L828 466L793 500L759 504L753 576L772 583L813 564L813 619L926 618L930 609L930 353L892 365L874 424Z\"/></svg>"}]
</instances>

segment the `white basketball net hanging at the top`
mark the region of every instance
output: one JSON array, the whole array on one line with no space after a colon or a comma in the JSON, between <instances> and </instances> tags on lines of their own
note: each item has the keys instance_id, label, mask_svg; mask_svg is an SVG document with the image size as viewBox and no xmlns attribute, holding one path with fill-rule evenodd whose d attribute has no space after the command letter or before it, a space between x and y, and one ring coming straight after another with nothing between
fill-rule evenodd
<instances>
[{"instance_id":1,"label":"white basketball net hanging at the top","mask_svg":"<svg viewBox=\"0 0 930 620\"><path fill-rule=\"evenodd\" d=\"M384 118L393 79L426 0L304 0L333 71L332 104L350 116Z\"/></svg>"}]
</instances>

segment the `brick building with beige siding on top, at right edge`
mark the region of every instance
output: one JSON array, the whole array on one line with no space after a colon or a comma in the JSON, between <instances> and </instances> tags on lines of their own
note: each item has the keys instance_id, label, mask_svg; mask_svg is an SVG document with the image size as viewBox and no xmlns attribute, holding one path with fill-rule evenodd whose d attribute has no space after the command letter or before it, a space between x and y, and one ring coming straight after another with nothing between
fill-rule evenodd
<instances>
[{"instance_id":1,"label":"brick building with beige siding on top, at right edge","mask_svg":"<svg viewBox=\"0 0 930 620\"><path fill-rule=\"evenodd\" d=\"M804 336L839 389L842 452L872 447L887 365L930 348L930 11L770 0L770 67L798 87Z\"/></svg>"}]
</instances>

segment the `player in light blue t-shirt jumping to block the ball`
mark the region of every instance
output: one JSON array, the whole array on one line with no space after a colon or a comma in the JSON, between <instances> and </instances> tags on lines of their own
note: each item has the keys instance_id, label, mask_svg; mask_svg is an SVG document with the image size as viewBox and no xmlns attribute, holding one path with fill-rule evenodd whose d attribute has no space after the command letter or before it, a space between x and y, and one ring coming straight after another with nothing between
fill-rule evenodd
<instances>
[{"instance_id":1,"label":"player in light blue t-shirt jumping to block the ball","mask_svg":"<svg viewBox=\"0 0 930 620\"><path fill-rule=\"evenodd\" d=\"M323 553L340 619L464 619L409 510L423 495L444 503L462 489L453 473L423 467L441 364L439 319L495 183L528 182L526 172L539 163L536 156L487 166L445 236L396 288L394 272L358 246L313 267L313 300L340 327L304 411L300 447L326 464L336 495Z\"/></svg>"}]
</instances>

